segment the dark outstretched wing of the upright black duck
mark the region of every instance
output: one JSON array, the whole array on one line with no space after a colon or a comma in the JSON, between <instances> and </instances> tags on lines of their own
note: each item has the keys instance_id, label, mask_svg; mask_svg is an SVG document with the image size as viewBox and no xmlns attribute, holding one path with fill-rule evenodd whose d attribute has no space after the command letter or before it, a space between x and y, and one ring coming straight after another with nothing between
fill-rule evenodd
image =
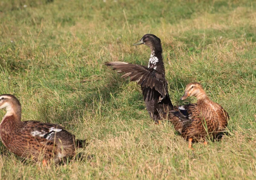
<instances>
[{"instance_id":1,"label":"dark outstretched wing of the upright black duck","mask_svg":"<svg viewBox=\"0 0 256 180\"><path fill-rule=\"evenodd\" d=\"M105 65L113 66L113 70L118 70L117 73L125 73L122 78L129 76L130 81L135 81L142 87L150 87L151 89L154 87L163 97L168 94L164 75L154 68L126 62L106 62Z\"/></svg>"}]
</instances>

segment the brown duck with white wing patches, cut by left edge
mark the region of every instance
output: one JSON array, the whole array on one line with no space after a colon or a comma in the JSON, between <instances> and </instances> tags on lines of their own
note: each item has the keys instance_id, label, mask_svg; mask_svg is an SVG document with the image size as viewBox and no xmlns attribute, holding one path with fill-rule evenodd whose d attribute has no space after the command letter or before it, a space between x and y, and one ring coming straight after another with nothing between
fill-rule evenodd
<instances>
[{"instance_id":1,"label":"brown duck with white wing patches, cut by left edge","mask_svg":"<svg viewBox=\"0 0 256 180\"><path fill-rule=\"evenodd\" d=\"M10 152L24 159L41 160L47 165L50 160L59 163L76 155L86 140L76 140L64 127L39 121L21 121L20 101L11 94L0 96L0 109L5 109L0 124L0 138Z\"/></svg>"}]
</instances>

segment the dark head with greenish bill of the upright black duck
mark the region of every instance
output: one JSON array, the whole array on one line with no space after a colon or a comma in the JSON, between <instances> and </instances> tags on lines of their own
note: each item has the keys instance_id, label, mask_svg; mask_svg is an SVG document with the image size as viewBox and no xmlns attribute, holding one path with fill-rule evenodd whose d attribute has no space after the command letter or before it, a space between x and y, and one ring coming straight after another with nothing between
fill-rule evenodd
<instances>
[{"instance_id":1,"label":"dark head with greenish bill of the upright black duck","mask_svg":"<svg viewBox=\"0 0 256 180\"><path fill-rule=\"evenodd\" d=\"M162 52L161 40L154 34L145 34L138 42L134 43L134 45L142 44L147 45L151 51Z\"/></svg>"}]
</instances>

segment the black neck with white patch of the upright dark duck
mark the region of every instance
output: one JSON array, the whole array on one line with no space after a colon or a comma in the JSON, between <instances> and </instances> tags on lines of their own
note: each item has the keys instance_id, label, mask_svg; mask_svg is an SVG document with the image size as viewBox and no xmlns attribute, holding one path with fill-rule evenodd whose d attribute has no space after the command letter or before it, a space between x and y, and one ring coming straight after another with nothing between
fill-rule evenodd
<instances>
[{"instance_id":1,"label":"black neck with white patch of the upright dark duck","mask_svg":"<svg viewBox=\"0 0 256 180\"><path fill-rule=\"evenodd\" d=\"M165 73L164 65L163 65L163 56L162 56L162 47L151 48L151 55L148 62L148 68L154 68L160 73Z\"/></svg>"}]
</instances>

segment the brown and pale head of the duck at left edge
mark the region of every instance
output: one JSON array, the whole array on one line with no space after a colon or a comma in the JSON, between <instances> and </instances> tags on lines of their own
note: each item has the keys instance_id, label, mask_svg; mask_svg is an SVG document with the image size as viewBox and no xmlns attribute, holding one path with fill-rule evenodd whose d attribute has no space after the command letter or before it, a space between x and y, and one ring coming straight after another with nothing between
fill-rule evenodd
<instances>
[{"instance_id":1,"label":"brown and pale head of the duck at left edge","mask_svg":"<svg viewBox=\"0 0 256 180\"><path fill-rule=\"evenodd\" d=\"M11 94L2 94L0 95L0 109L5 109L6 113L9 114L20 114L21 105L20 101Z\"/></svg>"}]
</instances>

